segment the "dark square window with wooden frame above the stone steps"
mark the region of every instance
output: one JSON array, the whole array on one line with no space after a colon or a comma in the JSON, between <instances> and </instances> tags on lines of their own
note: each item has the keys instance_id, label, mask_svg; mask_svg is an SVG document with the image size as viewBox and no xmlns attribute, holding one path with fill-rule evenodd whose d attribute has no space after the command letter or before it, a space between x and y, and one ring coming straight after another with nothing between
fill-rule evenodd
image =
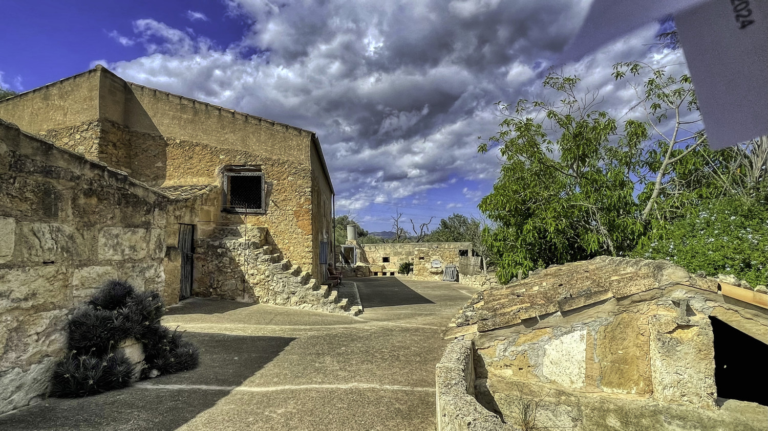
<instances>
[{"instance_id":1,"label":"dark square window with wooden frame above the stone steps","mask_svg":"<svg viewBox=\"0 0 768 431\"><path fill-rule=\"evenodd\" d=\"M224 172L224 209L230 212L263 214L264 176L255 168L230 168Z\"/></svg>"}]
</instances>

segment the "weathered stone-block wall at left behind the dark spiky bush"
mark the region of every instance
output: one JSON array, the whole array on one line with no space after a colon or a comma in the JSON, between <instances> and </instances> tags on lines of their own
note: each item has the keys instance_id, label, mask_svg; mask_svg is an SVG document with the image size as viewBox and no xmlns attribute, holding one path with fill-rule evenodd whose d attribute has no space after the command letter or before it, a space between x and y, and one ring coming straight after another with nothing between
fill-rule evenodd
<instances>
[{"instance_id":1,"label":"weathered stone-block wall at left behind the dark spiky bush","mask_svg":"<svg viewBox=\"0 0 768 431\"><path fill-rule=\"evenodd\" d=\"M0 413L45 396L67 315L110 278L161 290L167 198L0 122Z\"/></svg>"}]
</instances>

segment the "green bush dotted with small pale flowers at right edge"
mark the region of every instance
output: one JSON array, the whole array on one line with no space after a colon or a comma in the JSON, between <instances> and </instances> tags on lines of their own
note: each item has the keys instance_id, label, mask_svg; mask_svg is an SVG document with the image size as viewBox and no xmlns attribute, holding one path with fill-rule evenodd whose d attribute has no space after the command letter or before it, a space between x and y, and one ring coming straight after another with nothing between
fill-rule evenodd
<instances>
[{"instance_id":1,"label":"green bush dotted with small pale flowers at right edge","mask_svg":"<svg viewBox=\"0 0 768 431\"><path fill-rule=\"evenodd\" d=\"M733 274L751 285L768 281L768 204L727 197L649 234L633 257L667 259L687 271Z\"/></svg>"}]
</instances>

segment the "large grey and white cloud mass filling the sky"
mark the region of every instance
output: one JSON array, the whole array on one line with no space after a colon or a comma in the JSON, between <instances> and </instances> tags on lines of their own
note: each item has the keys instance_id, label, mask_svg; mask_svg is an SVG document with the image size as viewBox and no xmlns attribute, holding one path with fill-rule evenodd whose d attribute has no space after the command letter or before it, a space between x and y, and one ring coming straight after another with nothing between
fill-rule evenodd
<instances>
[{"instance_id":1,"label":"large grey and white cloud mass filling the sky","mask_svg":"<svg viewBox=\"0 0 768 431\"><path fill-rule=\"evenodd\" d=\"M149 55L108 67L129 81L315 130L337 192L365 207L377 197L424 196L457 177L495 179L498 152L476 151L477 138L492 136L502 120L493 104L553 96L541 88L542 68L556 61L586 3L227 0L230 15L250 23L236 44L217 48L145 19L134 31ZM601 109L624 115L637 99L614 82L612 64L683 60L646 45L655 31L607 44L563 71L598 90ZM241 54L253 49L260 54ZM464 202L477 199L468 193Z\"/></svg>"}]
</instances>

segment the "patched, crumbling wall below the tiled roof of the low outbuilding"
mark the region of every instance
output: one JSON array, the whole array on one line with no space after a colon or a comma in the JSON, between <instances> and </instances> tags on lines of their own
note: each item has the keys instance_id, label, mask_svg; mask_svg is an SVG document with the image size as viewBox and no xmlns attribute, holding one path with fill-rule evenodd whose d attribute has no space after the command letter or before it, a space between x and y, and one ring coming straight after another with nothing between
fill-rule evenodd
<instances>
[{"instance_id":1,"label":"patched, crumbling wall below the tiled roof of the low outbuilding","mask_svg":"<svg viewBox=\"0 0 768 431\"><path fill-rule=\"evenodd\" d=\"M768 331L754 312L717 303L716 295L643 292L468 337L476 346L475 395L513 424L520 393L542 399L541 429L676 429L668 425L676 422L760 429L755 418L768 407L717 404L709 316L741 322L759 339ZM755 321L744 327L745 317Z\"/></svg>"}]
</instances>

